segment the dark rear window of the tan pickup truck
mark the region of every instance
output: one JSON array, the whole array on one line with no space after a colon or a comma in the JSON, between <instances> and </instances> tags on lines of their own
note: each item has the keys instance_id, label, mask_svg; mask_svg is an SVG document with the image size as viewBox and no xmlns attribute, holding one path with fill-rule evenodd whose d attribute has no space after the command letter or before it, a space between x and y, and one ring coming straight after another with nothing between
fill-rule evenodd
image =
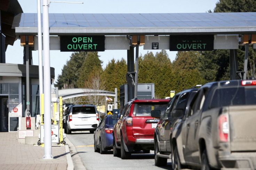
<instances>
[{"instance_id":1,"label":"dark rear window of the tan pickup truck","mask_svg":"<svg viewBox=\"0 0 256 170\"><path fill-rule=\"evenodd\" d=\"M245 87L218 88L215 90L210 108L250 104L256 104L256 89Z\"/></svg>"}]
</instances>

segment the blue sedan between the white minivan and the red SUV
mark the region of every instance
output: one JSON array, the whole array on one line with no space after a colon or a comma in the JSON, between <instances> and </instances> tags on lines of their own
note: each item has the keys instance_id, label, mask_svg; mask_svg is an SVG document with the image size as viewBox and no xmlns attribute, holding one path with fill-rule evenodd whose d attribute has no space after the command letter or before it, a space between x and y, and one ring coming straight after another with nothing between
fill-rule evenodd
<instances>
[{"instance_id":1,"label":"blue sedan between the white minivan and the red SUV","mask_svg":"<svg viewBox=\"0 0 256 170\"><path fill-rule=\"evenodd\" d=\"M111 115L106 115L94 132L94 152L105 154L113 148L113 126L118 119L112 119Z\"/></svg>"}]
</instances>

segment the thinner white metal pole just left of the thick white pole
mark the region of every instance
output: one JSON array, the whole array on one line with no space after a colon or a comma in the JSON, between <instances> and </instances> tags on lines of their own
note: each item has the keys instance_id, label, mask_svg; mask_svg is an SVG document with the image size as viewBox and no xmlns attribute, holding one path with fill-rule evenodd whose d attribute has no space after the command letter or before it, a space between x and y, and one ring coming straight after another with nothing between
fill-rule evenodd
<instances>
[{"instance_id":1,"label":"thinner white metal pole just left of the thick white pole","mask_svg":"<svg viewBox=\"0 0 256 170\"><path fill-rule=\"evenodd\" d=\"M41 24L41 0L37 0L37 30L38 30L38 70L39 70L39 93L43 94L43 56L42 56L42 24ZM40 116L41 116L41 97Z\"/></svg>"}]
</instances>

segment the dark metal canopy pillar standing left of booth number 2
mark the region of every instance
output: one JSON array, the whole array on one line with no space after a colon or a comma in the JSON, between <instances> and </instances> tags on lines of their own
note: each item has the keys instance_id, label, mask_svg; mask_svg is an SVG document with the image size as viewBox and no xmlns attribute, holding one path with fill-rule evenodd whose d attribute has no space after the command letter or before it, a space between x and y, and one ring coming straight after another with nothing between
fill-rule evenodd
<instances>
[{"instance_id":1,"label":"dark metal canopy pillar standing left of booth number 2","mask_svg":"<svg viewBox=\"0 0 256 170\"><path fill-rule=\"evenodd\" d=\"M130 50L127 50L127 72L134 71L134 47L130 46ZM134 87L128 86L128 101L134 99Z\"/></svg>"}]
</instances>

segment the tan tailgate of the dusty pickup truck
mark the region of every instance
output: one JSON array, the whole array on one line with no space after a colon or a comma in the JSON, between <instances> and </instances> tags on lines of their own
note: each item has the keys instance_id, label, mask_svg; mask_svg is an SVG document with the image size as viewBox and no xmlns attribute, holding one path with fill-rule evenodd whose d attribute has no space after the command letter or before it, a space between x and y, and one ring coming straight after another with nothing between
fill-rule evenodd
<instances>
[{"instance_id":1,"label":"tan tailgate of the dusty pickup truck","mask_svg":"<svg viewBox=\"0 0 256 170\"><path fill-rule=\"evenodd\" d=\"M256 151L256 105L230 106L231 152Z\"/></svg>"}]
</instances>

